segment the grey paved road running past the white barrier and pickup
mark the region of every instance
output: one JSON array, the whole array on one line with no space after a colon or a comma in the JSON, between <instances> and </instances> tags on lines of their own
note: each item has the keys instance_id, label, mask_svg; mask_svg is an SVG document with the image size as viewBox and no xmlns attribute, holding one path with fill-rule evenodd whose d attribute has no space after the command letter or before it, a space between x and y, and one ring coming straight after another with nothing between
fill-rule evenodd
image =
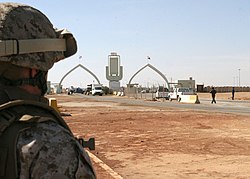
<instances>
[{"instance_id":1,"label":"grey paved road running past the white barrier and pickup","mask_svg":"<svg viewBox=\"0 0 250 179\"><path fill-rule=\"evenodd\" d=\"M177 101L149 101L145 99L133 99L127 97L117 96L86 96L81 94L74 94L82 98L89 98L98 101L110 101L117 103L126 103L133 105L167 107L167 108L180 108L191 109L197 111L214 111L222 113L237 113L250 115L250 101L230 101L230 100L217 100L217 104L211 104L210 99L199 99L200 104L184 104Z\"/></svg>"}]
</instances>

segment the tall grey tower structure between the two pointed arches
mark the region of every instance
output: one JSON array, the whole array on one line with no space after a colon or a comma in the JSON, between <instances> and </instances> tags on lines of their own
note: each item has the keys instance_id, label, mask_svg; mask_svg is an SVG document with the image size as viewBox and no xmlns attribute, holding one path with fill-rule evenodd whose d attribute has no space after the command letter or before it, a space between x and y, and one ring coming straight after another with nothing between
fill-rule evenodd
<instances>
[{"instance_id":1,"label":"tall grey tower structure between the two pointed arches","mask_svg":"<svg viewBox=\"0 0 250 179\"><path fill-rule=\"evenodd\" d=\"M120 55L111 52L108 56L108 66L106 66L106 78L109 80L109 88L114 91L119 91L122 77L123 67L120 65Z\"/></svg>"}]
</instances>

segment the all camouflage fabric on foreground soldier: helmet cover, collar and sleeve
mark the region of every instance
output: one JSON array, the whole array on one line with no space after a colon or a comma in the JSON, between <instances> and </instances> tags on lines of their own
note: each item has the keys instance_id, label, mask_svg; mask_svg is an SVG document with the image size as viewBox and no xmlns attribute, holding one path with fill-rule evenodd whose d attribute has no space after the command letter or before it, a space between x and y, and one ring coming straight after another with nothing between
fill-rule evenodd
<instances>
[{"instance_id":1,"label":"all camouflage fabric on foreground soldier: helmet cover, collar and sleeve","mask_svg":"<svg viewBox=\"0 0 250 179\"><path fill-rule=\"evenodd\" d=\"M17 3L0 3L0 41L57 39L59 35L48 18L37 9ZM50 51L0 56L0 61L47 72L55 62L65 57L65 52ZM12 100L32 100L48 105L43 96L0 84L0 104ZM29 115L48 117L46 112L26 110L30 112ZM21 179L95 178L87 153L70 131L53 120L36 123L21 131L16 144L18 174Z\"/></svg>"}]
</instances>

